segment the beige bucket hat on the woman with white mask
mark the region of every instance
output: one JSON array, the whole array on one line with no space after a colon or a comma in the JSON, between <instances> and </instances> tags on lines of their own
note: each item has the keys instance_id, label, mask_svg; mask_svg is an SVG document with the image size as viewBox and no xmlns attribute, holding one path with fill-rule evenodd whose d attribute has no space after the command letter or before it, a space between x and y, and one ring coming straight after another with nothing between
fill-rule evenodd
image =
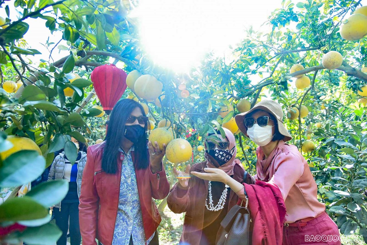
<instances>
[{"instance_id":1,"label":"beige bucket hat on the woman with white mask","mask_svg":"<svg viewBox=\"0 0 367 245\"><path fill-rule=\"evenodd\" d=\"M250 111L243 112L235 116L237 126L241 130L241 132L246 135L247 127L244 125L244 119L246 115L250 114L255 110L263 110L269 112L274 118L277 119L278 131L281 135L284 136L284 141L289 141L292 139L292 136L289 134L288 130L283 125L283 109L281 105L273 100L262 100L258 102L254 107L251 108Z\"/></svg>"}]
</instances>

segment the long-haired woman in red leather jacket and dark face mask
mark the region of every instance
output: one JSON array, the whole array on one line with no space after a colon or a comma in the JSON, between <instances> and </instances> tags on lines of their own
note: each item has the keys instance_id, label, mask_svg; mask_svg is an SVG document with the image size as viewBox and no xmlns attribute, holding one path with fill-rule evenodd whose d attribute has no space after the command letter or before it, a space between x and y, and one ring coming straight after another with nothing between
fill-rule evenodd
<instances>
[{"instance_id":1,"label":"long-haired woman in red leather jacket and dark face mask","mask_svg":"<svg viewBox=\"0 0 367 245\"><path fill-rule=\"evenodd\" d=\"M146 141L148 117L130 99L113 108L102 143L87 151L79 221L83 244L159 244L154 199L170 191L157 142Z\"/></svg>"}]
</instances>

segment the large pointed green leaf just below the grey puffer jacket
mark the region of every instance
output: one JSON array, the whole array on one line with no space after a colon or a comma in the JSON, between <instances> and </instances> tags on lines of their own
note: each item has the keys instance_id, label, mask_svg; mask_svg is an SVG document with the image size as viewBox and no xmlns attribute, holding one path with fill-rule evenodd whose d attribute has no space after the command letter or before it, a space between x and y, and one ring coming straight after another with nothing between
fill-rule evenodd
<instances>
[{"instance_id":1,"label":"large pointed green leaf just below the grey puffer jacket","mask_svg":"<svg viewBox=\"0 0 367 245\"><path fill-rule=\"evenodd\" d=\"M68 193L68 190L69 183L67 181L54 180L37 185L36 187L32 188L32 190L30 190L25 196L32 198L45 208L50 208L51 206L61 202L61 200Z\"/></svg>"}]
</instances>

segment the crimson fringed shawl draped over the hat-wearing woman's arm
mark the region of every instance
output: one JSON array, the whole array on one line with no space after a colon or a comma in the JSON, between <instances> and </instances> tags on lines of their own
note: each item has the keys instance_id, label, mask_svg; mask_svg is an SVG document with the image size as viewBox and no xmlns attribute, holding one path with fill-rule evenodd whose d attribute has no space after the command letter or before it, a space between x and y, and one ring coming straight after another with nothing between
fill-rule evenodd
<instances>
[{"instance_id":1,"label":"crimson fringed shawl draped over the hat-wearing woman's arm","mask_svg":"<svg viewBox=\"0 0 367 245\"><path fill-rule=\"evenodd\" d=\"M280 245L286 221L286 205L275 183L257 180L254 185L243 184L248 197L253 230L252 244ZM244 200L245 201L245 200ZM237 203L240 205L241 199Z\"/></svg>"}]
</instances>

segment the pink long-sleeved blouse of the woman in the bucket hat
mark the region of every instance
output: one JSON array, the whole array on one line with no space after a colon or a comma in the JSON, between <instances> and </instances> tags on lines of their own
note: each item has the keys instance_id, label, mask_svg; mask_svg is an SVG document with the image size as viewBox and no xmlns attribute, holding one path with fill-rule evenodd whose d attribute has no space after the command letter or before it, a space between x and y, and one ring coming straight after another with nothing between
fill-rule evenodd
<instances>
[{"instance_id":1,"label":"pink long-sleeved blouse of the woman in the bucket hat","mask_svg":"<svg viewBox=\"0 0 367 245\"><path fill-rule=\"evenodd\" d=\"M308 163L297 147L281 140L268 158L260 147L256 155L254 177L279 187L287 208L286 223L317 217L325 211L325 205L317 200L317 185Z\"/></svg>"}]
</instances>

